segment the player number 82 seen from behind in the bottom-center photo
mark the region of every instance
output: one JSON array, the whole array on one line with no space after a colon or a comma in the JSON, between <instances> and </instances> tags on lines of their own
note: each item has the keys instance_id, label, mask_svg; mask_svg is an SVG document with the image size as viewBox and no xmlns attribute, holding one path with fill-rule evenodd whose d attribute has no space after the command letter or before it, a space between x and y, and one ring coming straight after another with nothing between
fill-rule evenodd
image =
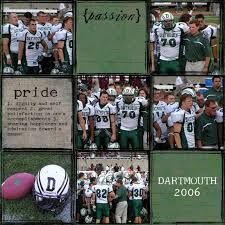
<instances>
[{"instance_id":1,"label":"player number 82 seen from behind in the bottom-center photo","mask_svg":"<svg viewBox=\"0 0 225 225\"><path fill-rule=\"evenodd\" d=\"M104 223L109 223L109 204L115 198L112 185L107 185L105 177L101 177L98 183L93 186L93 202L96 205L96 223L100 223L104 218Z\"/></svg>"}]
</instances>

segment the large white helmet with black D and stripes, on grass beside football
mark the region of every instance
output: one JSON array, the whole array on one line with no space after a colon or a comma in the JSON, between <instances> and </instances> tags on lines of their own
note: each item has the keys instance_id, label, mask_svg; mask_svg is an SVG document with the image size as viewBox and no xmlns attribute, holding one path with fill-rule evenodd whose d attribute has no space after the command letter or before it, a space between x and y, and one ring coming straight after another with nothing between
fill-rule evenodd
<instances>
[{"instance_id":1,"label":"large white helmet with black D and stripes, on grass beside football","mask_svg":"<svg viewBox=\"0 0 225 225\"><path fill-rule=\"evenodd\" d=\"M70 179L58 165L47 165L39 170L33 188L37 206L54 214L60 213L69 197Z\"/></svg>"}]
</instances>

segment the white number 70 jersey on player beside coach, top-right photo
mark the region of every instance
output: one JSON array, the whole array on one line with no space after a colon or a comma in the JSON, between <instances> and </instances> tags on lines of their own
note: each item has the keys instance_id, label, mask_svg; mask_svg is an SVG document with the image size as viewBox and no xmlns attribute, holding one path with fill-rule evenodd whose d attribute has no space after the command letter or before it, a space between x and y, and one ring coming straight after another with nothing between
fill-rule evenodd
<instances>
[{"instance_id":1,"label":"white number 70 jersey on player beside coach, top-right photo","mask_svg":"<svg viewBox=\"0 0 225 225\"><path fill-rule=\"evenodd\" d=\"M162 25L158 27L155 31L155 37L157 36L159 39L160 59L172 61L179 58L181 37L183 33L188 31L183 29L184 27L180 27L178 23L171 30L163 29Z\"/></svg>"}]
</instances>

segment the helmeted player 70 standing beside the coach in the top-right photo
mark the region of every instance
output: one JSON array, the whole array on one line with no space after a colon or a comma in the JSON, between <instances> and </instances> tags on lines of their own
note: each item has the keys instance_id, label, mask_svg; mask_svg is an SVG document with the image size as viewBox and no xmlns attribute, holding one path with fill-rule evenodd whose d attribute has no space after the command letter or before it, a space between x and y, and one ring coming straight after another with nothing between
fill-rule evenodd
<instances>
[{"instance_id":1,"label":"helmeted player 70 standing beside the coach in the top-right photo","mask_svg":"<svg viewBox=\"0 0 225 225\"><path fill-rule=\"evenodd\" d=\"M174 16L165 12L162 14L161 24L155 30L151 42L155 42L156 38L160 44L160 74L178 74L180 72L179 53L183 34L188 32L188 28L179 26L174 22Z\"/></svg>"}]
</instances>

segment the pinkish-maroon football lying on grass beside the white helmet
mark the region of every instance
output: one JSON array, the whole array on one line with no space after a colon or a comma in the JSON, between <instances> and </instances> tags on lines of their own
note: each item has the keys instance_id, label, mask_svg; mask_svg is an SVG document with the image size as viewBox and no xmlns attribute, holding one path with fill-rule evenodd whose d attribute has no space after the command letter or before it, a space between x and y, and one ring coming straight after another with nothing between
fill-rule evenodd
<instances>
[{"instance_id":1,"label":"pinkish-maroon football lying on grass beside the white helmet","mask_svg":"<svg viewBox=\"0 0 225 225\"><path fill-rule=\"evenodd\" d=\"M16 173L2 183L2 198L20 199L32 191L35 176L30 173Z\"/></svg>"}]
</instances>

